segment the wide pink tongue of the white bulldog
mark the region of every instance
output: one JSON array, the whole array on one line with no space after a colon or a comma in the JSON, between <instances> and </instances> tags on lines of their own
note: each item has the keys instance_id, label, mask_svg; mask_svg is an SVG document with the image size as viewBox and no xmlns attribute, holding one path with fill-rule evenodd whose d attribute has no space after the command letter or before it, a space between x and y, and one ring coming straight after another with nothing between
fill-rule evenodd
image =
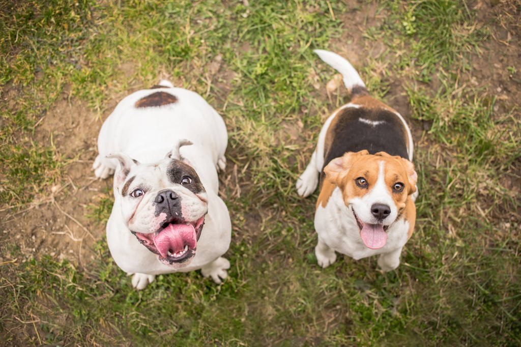
<instances>
[{"instance_id":1,"label":"wide pink tongue of the white bulldog","mask_svg":"<svg viewBox=\"0 0 521 347\"><path fill-rule=\"evenodd\" d=\"M195 229L191 225L169 224L154 237L154 244L162 257L171 253L179 253L184 250L184 246L194 249L197 245Z\"/></svg>"}]
</instances>

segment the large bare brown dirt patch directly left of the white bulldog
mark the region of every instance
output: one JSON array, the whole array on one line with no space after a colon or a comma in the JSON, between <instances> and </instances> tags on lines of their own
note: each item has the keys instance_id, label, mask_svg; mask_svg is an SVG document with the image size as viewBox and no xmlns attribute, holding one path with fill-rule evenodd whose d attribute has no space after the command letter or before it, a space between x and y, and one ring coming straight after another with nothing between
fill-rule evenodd
<instances>
[{"instance_id":1,"label":"large bare brown dirt patch directly left of the white bulldog","mask_svg":"<svg viewBox=\"0 0 521 347\"><path fill-rule=\"evenodd\" d=\"M91 248L103 236L104 226L86 218L87 206L96 204L111 188L110 180L96 180L91 170L100 127L97 114L78 100L69 100L67 93L36 127L35 141L49 144L52 139L57 154L73 159L64 177L66 183L54 186L48 198L6 218L4 237L7 230L16 230L7 238L16 239L27 259L49 254L82 266L94 255ZM11 259L9 254L6 257Z\"/></svg>"}]
</instances>

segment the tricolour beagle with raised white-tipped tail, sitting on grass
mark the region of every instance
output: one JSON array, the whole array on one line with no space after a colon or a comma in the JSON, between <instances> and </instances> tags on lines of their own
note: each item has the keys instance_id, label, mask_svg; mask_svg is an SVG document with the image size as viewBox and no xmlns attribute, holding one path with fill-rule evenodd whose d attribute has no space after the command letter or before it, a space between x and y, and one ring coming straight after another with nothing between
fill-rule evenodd
<instances>
[{"instance_id":1,"label":"tricolour beagle with raised white-tipped tail, sitting on grass","mask_svg":"<svg viewBox=\"0 0 521 347\"><path fill-rule=\"evenodd\" d=\"M296 183L297 193L306 197L320 181L318 264L325 268L334 263L335 252L355 260L379 254L380 268L393 270L416 220L418 176L411 130L397 111L369 96L347 60L321 49L315 53L341 73L351 94L351 102L326 120Z\"/></svg>"}]
</instances>

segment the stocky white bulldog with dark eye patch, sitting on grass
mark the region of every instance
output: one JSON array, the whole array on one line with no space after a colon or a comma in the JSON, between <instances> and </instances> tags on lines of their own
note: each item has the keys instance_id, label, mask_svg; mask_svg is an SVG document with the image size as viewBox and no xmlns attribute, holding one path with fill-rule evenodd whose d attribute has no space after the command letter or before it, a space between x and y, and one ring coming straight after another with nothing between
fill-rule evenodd
<instances>
[{"instance_id":1,"label":"stocky white bulldog with dark eye patch, sitting on grass","mask_svg":"<svg viewBox=\"0 0 521 347\"><path fill-rule=\"evenodd\" d=\"M114 173L107 243L135 289L177 271L228 276L231 221L217 178L227 145L217 111L165 80L123 98L103 123L93 169Z\"/></svg>"}]
</instances>

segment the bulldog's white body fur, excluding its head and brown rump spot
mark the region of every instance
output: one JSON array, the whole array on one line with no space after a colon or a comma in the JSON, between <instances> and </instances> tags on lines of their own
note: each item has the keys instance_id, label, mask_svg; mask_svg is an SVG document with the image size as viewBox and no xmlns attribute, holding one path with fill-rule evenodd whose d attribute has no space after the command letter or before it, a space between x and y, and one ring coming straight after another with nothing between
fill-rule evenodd
<instances>
[{"instance_id":1,"label":"bulldog's white body fur, excluding its head and brown rump spot","mask_svg":"<svg viewBox=\"0 0 521 347\"><path fill-rule=\"evenodd\" d=\"M156 255L140 244L126 226L123 215L130 207L121 203L121 195L114 187L115 202L107 222L107 242L116 264L132 277L132 286L143 289L157 274L203 269L204 276L214 281L226 278L229 263L222 258L231 239L231 221L225 203L218 196L217 170L226 165L228 144L226 126L221 116L197 93L173 88L168 81L160 85L170 88L140 90L125 97L105 120L98 136L98 151L93 168L95 176L106 178L120 170L117 159L110 153L122 152L140 164L157 163L180 139L193 145L180 148L180 154L195 169L206 190L208 213L197 252L192 262L175 269L160 263ZM155 92L171 93L177 102L158 107L134 107L135 102ZM165 172L159 173L165 176ZM157 172L155 173L157 175ZM154 182L160 182L157 179ZM159 183L153 183L159 184ZM157 187L159 188L159 187ZM126 208L126 211L122 211ZM157 223L155 220L145 224Z\"/></svg>"}]
</instances>

